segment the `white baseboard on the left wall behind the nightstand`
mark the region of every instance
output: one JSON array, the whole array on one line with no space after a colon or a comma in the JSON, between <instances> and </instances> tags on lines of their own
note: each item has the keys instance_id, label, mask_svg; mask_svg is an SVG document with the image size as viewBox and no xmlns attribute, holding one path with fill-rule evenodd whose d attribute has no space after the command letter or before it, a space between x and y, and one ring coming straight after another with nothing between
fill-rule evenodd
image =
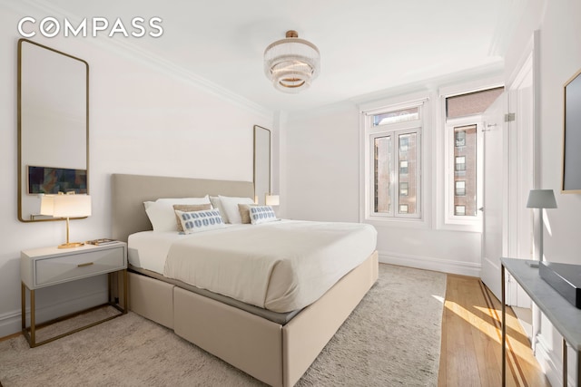
<instances>
[{"instance_id":1,"label":"white baseboard on the left wall behind the nightstand","mask_svg":"<svg viewBox=\"0 0 581 387\"><path fill-rule=\"evenodd\" d=\"M54 318L72 314L101 305L107 301L107 290L98 291L83 296L57 302L51 305L44 305L36 308L36 322L42 323ZM26 307L26 326L30 325L30 308ZM0 314L0 339L11 334L17 334L22 331L22 317L20 309Z\"/></svg>"}]
</instances>

